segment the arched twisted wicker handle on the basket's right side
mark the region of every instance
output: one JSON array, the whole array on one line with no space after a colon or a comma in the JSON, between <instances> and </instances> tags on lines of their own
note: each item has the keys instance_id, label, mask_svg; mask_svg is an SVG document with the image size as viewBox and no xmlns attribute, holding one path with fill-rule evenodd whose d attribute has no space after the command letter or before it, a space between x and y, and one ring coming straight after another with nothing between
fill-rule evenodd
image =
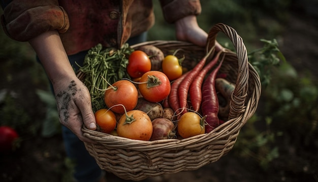
<instances>
[{"instance_id":1,"label":"arched twisted wicker handle on the basket's right side","mask_svg":"<svg viewBox=\"0 0 318 182\"><path fill-rule=\"evenodd\" d=\"M235 29L223 23L218 23L210 29L207 41L208 48L212 48L215 45L218 32L224 33L232 41L238 58L238 75L235 89L231 97L229 113L229 119L232 119L237 117L240 113L245 112L246 108L244 105L247 98L249 76L247 51L242 38L237 34Z\"/></svg>"}]
</instances>

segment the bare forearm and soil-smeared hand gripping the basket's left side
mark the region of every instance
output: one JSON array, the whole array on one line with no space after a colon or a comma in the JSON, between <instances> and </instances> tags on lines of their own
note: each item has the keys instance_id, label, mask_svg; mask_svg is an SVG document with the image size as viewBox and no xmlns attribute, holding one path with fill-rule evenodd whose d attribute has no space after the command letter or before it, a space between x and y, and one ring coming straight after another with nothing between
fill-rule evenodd
<instances>
[{"instance_id":1,"label":"bare forearm and soil-smeared hand gripping the basket's left side","mask_svg":"<svg viewBox=\"0 0 318 182\"><path fill-rule=\"evenodd\" d=\"M80 140L92 142L81 131L83 123L91 130L96 129L89 91L76 77L58 32L45 32L30 39L29 43L52 82L60 123L71 129Z\"/></svg>"}]
</instances>

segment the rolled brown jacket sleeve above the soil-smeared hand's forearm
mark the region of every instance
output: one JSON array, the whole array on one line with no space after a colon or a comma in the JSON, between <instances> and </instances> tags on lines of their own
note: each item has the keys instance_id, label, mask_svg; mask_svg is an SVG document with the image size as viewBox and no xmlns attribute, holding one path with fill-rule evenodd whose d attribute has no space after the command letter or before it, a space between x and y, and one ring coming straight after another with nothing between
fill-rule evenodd
<instances>
[{"instance_id":1,"label":"rolled brown jacket sleeve above the soil-smeared hand's forearm","mask_svg":"<svg viewBox=\"0 0 318 182\"><path fill-rule=\"evenodd\" d=\"M68 15L56 0L12 1L1 22L5 33L17 41L28 41L53 29L64 33L69 28Z\"/></svg>"}]
</instances>

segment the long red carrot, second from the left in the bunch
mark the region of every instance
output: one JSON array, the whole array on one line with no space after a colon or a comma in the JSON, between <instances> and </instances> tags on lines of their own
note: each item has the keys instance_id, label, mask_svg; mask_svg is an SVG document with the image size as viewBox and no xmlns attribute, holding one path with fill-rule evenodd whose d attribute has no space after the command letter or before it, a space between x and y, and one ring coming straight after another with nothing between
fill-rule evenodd
<instances>
[{"instance_id":1,"label":"long red carrot, second from the left in the bunch","mask_svg":"<svg viewBox=\"0 0 318 182\"><path fill-rule=\"evenodd\" d=\"M210 51L200 60L200 62L195 66L193 70L189 72L189 74L182 80L178 88L178 95L179 95L179 104L180 108L182 108L182 112L186 112L184 108L186 108L187 104L187 96L190 84L193 82L195 77L198 73L202 70L203 66L205 65L206 59L210 56L213 52L214 47L210 49Z\"/></svg>"}]
</instances>

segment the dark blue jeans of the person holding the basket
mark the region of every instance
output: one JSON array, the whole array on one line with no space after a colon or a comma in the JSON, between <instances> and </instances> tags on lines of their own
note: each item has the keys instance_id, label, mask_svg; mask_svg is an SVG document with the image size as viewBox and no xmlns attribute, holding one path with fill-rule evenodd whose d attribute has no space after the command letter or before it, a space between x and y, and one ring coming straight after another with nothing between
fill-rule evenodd
<instances>
[{"instance_id":1,"label":"dark blue jeans of the person holding the basket","mask_svg":"<svg viewBox=\"0 0 318 182\"><path fill-rule=\"evenodd\" d=\"M128 43L129 45L134 45L145 42L146 39L147 33L143 33L140 36L130 38ZM87 51L82 51L69 56L70 63L75 70L78 69L75 62L80 66L83 65L83 60ZM103 172L95 159L89 155L84 143L67 127L62 127L62 135L67 156L76 162L74 177L77 181L98 181L103 176Z\"/></svg>"}]
</instances>

